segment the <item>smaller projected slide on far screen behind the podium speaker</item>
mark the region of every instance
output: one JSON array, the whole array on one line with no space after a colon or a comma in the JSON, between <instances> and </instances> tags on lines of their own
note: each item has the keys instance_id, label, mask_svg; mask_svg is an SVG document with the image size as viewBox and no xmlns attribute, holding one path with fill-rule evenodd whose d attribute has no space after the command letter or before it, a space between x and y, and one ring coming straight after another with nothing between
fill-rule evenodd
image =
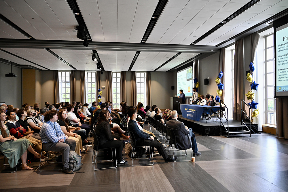
<instances>
[{"instance_id":1,"label":"smaller projected slide on far screen behind the podium speaker","mask_svg":"<svg viewBox=\"0 0 288 192\"><path fill-rule=\"evenodd\" d=\"M179 90L182 89L185 97L193 95L193 70L192 67L177 72L177 96L180 95Z\"/></svg>"}]
</instances>

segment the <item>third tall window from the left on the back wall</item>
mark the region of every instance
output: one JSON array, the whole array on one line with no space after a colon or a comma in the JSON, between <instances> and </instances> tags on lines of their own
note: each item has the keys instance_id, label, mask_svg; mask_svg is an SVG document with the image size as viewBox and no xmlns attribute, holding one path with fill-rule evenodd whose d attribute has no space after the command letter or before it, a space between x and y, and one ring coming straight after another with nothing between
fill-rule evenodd
<instances>
[{"instance_id":1,"label":"third tall window from the left on the back wall","mask_svg":"<svg viewBox=\"0 0 288 192\"><path fill-rule=\"evenodd\" d=\"M112 72L113 109L120 109L120 75L121 72Z\"/></svg>"}]
</instances>

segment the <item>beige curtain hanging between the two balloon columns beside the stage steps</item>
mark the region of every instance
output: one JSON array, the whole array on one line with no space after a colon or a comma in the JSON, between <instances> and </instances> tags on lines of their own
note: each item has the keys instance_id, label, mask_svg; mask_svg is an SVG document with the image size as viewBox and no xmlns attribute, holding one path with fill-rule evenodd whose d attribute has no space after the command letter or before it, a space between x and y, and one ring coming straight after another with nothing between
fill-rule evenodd
<instances>
[{"instance_id":1,"label":"beige curtain hanging between the two balloon columns beside the stage steps","mask_svg":"<svg viewBox=\"0 0 288 192\"><path fill-rule=\"evenodd\" d=\"M244 56L243 56L243 39L235 43L234 56L234 107L233 119L241 120L241 100L244 98Z\"/></svg>"}]
</instances>

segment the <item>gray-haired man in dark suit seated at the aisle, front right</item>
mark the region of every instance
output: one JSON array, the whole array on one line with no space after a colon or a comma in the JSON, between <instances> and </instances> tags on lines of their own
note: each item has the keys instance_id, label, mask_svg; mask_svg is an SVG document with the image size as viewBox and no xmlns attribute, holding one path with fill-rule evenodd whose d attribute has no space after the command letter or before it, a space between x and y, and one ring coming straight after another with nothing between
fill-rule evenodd
<instances>
[{"instance_id":1,"label":"gray-haired man in dark suit seated at the aisle, front right","mask_svg":"<svg viewBox=\"0 0 288 192\"><path fill-rule=\"evenodd\" d=\"M193 157L201 155L198 151L195 135L191 128L187 128L183 122L177 120L177 111L171 111L172 119L166 122L168 129L172 129L178 141L176 142L176 149L184 150L192 147ZM192 146L191 146L192 145Z\"/></svg>"}]
</instances>

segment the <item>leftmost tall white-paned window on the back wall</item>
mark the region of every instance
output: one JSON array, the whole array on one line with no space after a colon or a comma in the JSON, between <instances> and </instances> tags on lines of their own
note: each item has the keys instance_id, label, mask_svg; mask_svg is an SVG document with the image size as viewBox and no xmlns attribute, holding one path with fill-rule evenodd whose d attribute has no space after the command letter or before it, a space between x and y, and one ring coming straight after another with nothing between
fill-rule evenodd
<instances>
[{"instance_id":1,"label":"leftmost tall white-paned window on the back wall","mask_svg":"<svg viewBox=\"0 0 288 192\"><path fill-rule=\"evenodd\" d=\"M60 102L70 103L70 71L59 71Z\"/></svg>"}]
</instances>

